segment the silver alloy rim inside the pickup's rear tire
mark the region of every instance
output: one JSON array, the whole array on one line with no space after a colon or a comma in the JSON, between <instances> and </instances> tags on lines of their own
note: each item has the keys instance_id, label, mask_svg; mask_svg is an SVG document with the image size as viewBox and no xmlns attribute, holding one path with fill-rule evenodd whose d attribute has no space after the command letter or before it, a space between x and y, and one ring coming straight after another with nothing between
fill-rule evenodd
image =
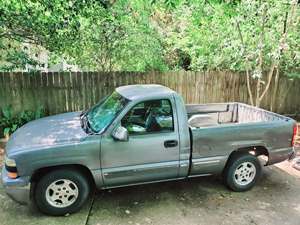
<instances>
[{"instance_id":1,"label":"silver alloy rim inside the pickup's rear tire","mask_svg":"<svg viewBox=\"0 0 300 225\"><path fill-rule=\"evenodd\" d=\"M252 162L241 163L234 171L234 180L238 185L250 184L256 175L256 167Z\"/></svg>"}]
</instances>

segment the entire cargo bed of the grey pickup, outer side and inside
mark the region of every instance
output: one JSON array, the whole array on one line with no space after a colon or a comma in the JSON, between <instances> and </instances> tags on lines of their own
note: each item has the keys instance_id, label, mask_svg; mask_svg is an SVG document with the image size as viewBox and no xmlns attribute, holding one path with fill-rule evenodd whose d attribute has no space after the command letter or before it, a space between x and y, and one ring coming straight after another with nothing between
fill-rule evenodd
<instances>
[{"instance_id":1,"label":"entire cargo bed of the grey pickup, outer side and inside","mask_svg":"<svg viewBox=\"0 0 300 225\"><path fill-rule=\"evenodd\" d=\"M268 164L292 152L292 119L243 103L186 105L191 130L191 176L221 173L231 152L265 149Z\"/></svg>"}]
</instances>

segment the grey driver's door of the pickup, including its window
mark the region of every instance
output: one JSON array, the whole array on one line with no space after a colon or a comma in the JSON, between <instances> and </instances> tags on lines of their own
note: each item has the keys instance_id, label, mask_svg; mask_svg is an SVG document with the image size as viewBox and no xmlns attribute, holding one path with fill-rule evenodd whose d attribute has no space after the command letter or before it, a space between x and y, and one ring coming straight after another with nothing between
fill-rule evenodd
<instances>
[{"instance_id":1,"label":"grey driver's door of the pickup, including its window","mask_svg":"<svg viewBox=\"0 0 300 225\"><path fill-rule=\"evenodd\" d=\"M140 102L121 120L128 141L103 137L101 168L106 187L178 177L179 135L173 109L173 98Z\"/></svg>"}]
</instances>

